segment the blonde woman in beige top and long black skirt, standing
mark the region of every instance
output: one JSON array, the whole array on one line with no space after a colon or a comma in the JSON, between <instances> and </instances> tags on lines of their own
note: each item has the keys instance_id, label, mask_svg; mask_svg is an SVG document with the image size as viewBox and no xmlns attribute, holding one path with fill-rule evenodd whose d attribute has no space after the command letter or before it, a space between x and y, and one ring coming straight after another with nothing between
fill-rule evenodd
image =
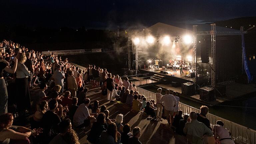
<instances>
[{"instance_id":1,"label":"blonde woman in beige top and long black skirt, standing","mask_svg":"<svg viewBox=\"0 0 256 144\"><path fill-rule=\"evenodd\" d=\"M23 112L30 109L30 93L28 85L28 77L30 76L30 71L24 65L27 60L25 53L17 54L17 70L16 70L16 100L17 100L17 110L18 112Z\"/></svg>"}]
</instances>

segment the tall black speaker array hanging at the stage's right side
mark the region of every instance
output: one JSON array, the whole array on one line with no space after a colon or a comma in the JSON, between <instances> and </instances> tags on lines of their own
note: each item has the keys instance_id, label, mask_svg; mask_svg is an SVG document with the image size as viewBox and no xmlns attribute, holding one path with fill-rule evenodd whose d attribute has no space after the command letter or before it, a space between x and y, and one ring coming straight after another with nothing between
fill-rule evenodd
<instances>
[{"instance_id":1,"label":"tall black speaker array hanging at the stage's right side","mask_svg":"<svg viewBox=\"0 0 256 144\"><path fill-rule=\"evenodd\" d=\"M201 61L202 63L208 63L209 62L209 42L203 38L203 40L200 42L200 49L201 49Z\"/></svg>"}]
</instances>

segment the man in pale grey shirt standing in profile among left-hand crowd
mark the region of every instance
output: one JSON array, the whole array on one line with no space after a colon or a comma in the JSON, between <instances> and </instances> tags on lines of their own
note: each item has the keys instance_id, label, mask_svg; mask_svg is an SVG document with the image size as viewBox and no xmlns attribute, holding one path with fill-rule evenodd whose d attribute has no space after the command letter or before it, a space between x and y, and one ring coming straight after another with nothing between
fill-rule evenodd
<instances>
[{"instance_id":1,"label":"man in pale grey shirt standing in profile among left-hand crowd","mask_svg":"<svg viewBox=\"0 0 256 144\"><path fill-rule=\"evenodd\" d=\"M60 65L56 66L56 71L53 74L53 78L54 78L55 85L60 85L61 86L60 92L63 93L65 74L61 70Z\"/></svg>"}]
</instances>

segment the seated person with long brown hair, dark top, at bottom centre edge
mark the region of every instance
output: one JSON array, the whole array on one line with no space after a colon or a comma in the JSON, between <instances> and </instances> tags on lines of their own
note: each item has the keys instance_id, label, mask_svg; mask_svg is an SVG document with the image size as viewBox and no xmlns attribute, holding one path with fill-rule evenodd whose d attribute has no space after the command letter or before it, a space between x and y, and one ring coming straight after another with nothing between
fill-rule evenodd
<instances>
[{"instance_id":1,"label":"seated person with long brown hair, dark top, at bottom centre edge","mask_svg":"<svg viewBox=\"0 0 256 144\"><path fill-rule=\"evenodd\" d=\"M108 125L107 131L103 131L98 144L119 144L121 134L117 131L115 123Z\"/></svg>"}]
</instances>

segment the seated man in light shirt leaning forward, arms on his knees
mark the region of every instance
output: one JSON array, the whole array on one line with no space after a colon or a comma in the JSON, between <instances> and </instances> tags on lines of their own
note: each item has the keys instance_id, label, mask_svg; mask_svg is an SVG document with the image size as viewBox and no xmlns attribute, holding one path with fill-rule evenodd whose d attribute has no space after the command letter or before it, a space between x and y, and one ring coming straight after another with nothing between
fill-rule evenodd
<instances>
[{"instance_id":1,"label":"seated man in light shirt leaning forward, arms on his knees","mask_svg":"<svg viewBox=\"0 0 256 144\"><path fill-rule=\"evenodd\" d=\"M96 121L94 117L97 113L89 113L88 106L90 105L90 99L85 98L83 104L81 104L73 117L74 126L83 128L86 126L92 127L92 123Z\"/></svg>"}]
</instances>

